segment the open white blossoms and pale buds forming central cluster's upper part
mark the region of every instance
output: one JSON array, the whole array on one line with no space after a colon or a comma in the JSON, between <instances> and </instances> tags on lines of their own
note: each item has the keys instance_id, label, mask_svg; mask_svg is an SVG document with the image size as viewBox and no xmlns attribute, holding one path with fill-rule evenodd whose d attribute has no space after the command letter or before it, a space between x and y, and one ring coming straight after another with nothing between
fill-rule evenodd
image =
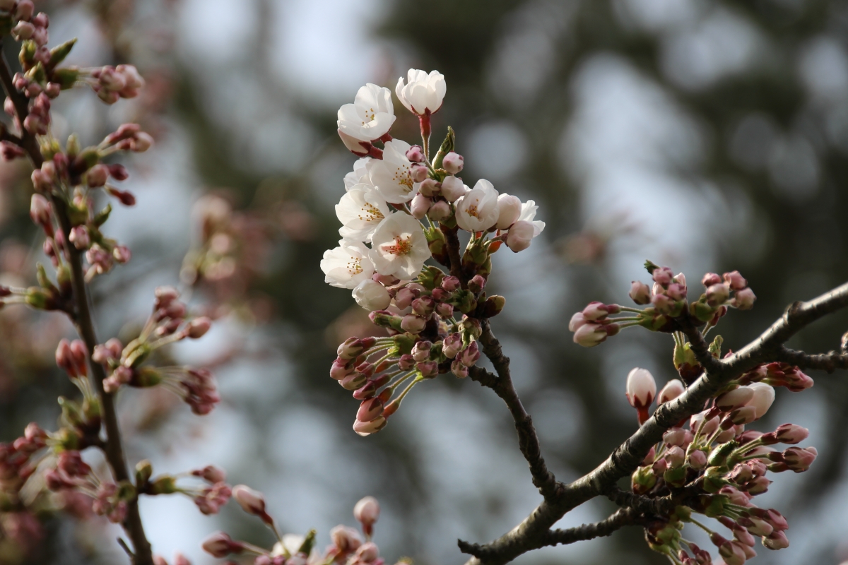
<instances>
[{"instance_id":1,"label":"open white blossoms and pale buds forming central cluster's upper part","mask_svg":"<svg viewBox=\"0 0 848 565\"><path fill-rule=\"evenodd\" d=\"M489 252L500 243L522 251L544 230L532 200L499 194L484 179L471 189L455 176L463 158L453 151L452 131L431 160L430 116L441 108L445 91L444 76L435 70L410 69L398 81L399 101L421 122L421 146L389 134L395 115L386 87L362 86L354 103L338 110L338 135L360 159L345 175L345 194L336 206L342 239L324 253L321 270L328 284L352 290L369 310L388 307L393 291L416 279L432 257L434 240L444 241L436 233L441 226L470 231L471 244L489 244ZM421 224L425 219L428 225Z\"/></svg>"}]
</instances>

